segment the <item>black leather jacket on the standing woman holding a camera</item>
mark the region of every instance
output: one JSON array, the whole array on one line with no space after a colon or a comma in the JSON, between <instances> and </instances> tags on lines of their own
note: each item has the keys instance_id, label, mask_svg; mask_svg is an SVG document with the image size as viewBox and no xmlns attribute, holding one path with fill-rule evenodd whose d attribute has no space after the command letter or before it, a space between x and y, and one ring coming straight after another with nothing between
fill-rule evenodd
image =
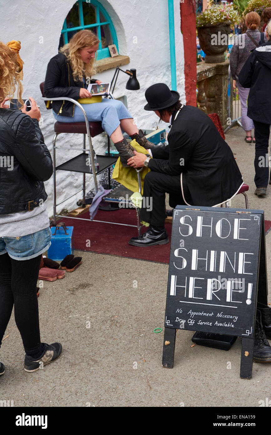
<instances>
[{"instance_id":1,"label":"black leather jacket on the standing woman holding a camera","mask_svg":"<svg viewBox=\"0 0 271 435\"><path fill-rule=\"evenodd\" d=\"M52 174L38 121L20 110L0 109L0 214L42 204L47 199L43 181Z\"/></svg>"}]
</instances>

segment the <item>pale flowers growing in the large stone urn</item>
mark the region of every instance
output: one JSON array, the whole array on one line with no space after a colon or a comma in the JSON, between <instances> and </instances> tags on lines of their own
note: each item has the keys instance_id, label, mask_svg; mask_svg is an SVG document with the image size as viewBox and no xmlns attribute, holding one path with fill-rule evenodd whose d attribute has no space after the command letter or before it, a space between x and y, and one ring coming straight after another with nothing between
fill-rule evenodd
<instances>
[{"instance_id":1,"label":"pale flowers growing in the large stone urn","mask_svg":"<svg viewBox=\"0 0 271 435\"><path fill-rule=\"evenodd\" d=\"M208 26L210 24L215 25L219 23L225 23L227 21L235 23L239 20L240 17L238 12L228 4L211 6L196 17L197 27Z\"/></svg>"}]
</instances>

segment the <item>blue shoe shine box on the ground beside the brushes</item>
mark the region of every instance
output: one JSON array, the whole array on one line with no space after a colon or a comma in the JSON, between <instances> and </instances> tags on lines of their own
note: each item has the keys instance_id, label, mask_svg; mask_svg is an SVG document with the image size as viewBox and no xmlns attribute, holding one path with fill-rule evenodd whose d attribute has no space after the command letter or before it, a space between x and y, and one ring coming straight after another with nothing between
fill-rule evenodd
<instances>
[{"instance_id":1,"label":"blue shoe shine box on the ground beside the brushes","mask_svg":"<svg viewBox=\"0 0 271 435\"><path fill-rule=\"evenodd\" d=\"M48 258L54 261L62 261L68 254L74 253L74 227L67 227L65 234L64 228L60 227L56 234L56 227L51 228L51 246L48 249Z\"/></svg>"}]
</instances>

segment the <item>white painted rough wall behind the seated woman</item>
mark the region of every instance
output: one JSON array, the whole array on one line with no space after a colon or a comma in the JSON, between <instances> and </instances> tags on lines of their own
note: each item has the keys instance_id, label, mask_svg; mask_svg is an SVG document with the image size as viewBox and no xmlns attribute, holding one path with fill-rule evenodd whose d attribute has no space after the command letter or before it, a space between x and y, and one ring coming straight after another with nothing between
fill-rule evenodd
<instances>
[{"instance_id":1,"label":"white painted rough wall behind the seated woman","mask_svg":"<svg viewBox=\"0 0 271 435\"><path fill-rule=\"evenodd\" d=\"M167 0L100 0L100 3L109 13L117 32L119 53L130 57L130 64L123 69L136 68L137 79L141 89L130 91L125 89L128 79L126 74L120 72L114 96L127 96L130 113L134 116L139 128L151 128L158 120L153 112L144 111L146 104L145 90L151 84L163 82L171 87L170 46L168 30ZM40 105L43 118L41 130L45 143L52 151L54 135L54 117L51 111L46 110L40 100L39 84L45 78L47 63L57 54L60 32L74 0L0 0L1 14L1 40L7 43L16 39L21 42L20 57L24 61L23 67L23 97L33 97ZM181 34L180 4L174 1L175 44L176 44L176 70L177 90L181 101L185 103L184 93L184 50ZM41 38L42 37L42 38ZM136 37L136 38L135 38ZM43 43L40 43L42 42ZM97 78L110 81L114 70L107 70ZM164 123L161 124L161 126ZM165 126L166 124L164 124ZM78 147L82 143L81 135L60 135L58 144L73 144ZM97 154L103 154L106 148L106 139L103 136L93 139ZM57 151L57 164L79 154L77 151ZM93 187L91 176L87 175L87 190ZM70 196L81 186L81 174L66 171L57 172L57 202ZM52 178L45 183L48 194L47 208L52 214ZM73 197L58 207L69 210L76 207L79 199Z\"/></svg>"}]
</instances>

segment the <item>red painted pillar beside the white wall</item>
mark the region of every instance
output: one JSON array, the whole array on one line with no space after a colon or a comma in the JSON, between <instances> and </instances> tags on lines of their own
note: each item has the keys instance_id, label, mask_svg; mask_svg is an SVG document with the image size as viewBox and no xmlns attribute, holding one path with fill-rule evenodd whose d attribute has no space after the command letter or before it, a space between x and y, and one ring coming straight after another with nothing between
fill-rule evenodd
<instances>
[{"instance_id":1,"label":"red painted pillar beside the white wall","mask_svg":"<svg viewBox=\"0 0 271 435\"><path fill-rule=\"evenodd\" d=\"M186 104L197 107L197 47L195 0L181 1L181 33L184 40L184 77Z\"/></svg>"}]
</instances>

